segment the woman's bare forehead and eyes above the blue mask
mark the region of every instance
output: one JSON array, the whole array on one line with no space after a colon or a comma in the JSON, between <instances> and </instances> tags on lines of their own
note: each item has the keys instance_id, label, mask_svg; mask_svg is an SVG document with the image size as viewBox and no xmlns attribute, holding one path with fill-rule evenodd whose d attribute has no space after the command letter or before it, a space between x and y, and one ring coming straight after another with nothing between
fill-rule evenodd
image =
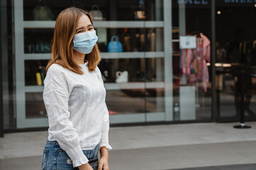
<instances>
[{"instance_id":1,"label":"woman's bare forehead and eyes above the blue mask","mask_svg":"<svg viewBox=\"0 0 256 170\"><path fill-rule=\"evenodd\" d=\"M92 26L89 17L83 14L79 18L79 21L77 24L77 29L76 29L76 34L84 33L84 32L91 31L91 30L94 30L94 27Z\"/></svg>"}]
</instances>

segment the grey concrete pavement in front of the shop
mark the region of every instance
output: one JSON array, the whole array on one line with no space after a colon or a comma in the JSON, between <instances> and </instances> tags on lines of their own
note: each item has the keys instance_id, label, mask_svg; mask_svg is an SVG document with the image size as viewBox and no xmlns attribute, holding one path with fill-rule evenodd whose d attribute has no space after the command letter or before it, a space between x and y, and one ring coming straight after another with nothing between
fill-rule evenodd
<instances>
[{"instance_id":1,"label":"grey concrete pavement in front of the shop","mask_svg":"<svg viewBox=\"0 0 256 170\"><path fill-rule=\"evenodd\" d=\"M110 169L251 170L256 163L256 123L247 123L252 128L246 130L234 129L237 124L111 128ZM47 136L46 131L5 134L0 139L0 169L40 169Z\"/></svg>"}]
</instances>

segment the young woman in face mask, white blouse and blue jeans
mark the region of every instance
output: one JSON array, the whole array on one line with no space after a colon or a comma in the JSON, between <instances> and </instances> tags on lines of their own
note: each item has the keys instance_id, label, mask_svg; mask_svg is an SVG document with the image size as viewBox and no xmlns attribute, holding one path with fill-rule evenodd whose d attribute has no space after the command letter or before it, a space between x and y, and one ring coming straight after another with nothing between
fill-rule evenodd
<instances>
[{"instance_id":1,"label":"young woman in face mask, white blouse and blue jeans","mask_svg":"<svg viewBox=\"0 0 256 170\"><path fill-rule=\"evenodd\" d=\"M101 58L91 16L66 8L57 17L43 100L48 140L42 169L108 170L109 116L97 67Z\"/></svg>"}]
</instances>

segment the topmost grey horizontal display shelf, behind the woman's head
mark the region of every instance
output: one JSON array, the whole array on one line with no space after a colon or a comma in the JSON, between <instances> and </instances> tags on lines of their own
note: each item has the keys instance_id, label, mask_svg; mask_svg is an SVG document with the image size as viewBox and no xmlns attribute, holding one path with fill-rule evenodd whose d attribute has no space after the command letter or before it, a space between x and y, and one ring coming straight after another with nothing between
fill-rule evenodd
<instances>
[{"instance_id":1,"label":"topmost grey horizontal display shelf, behind the woman's head","mask_svg":"<svg viewBox=\"0 0 256 170\"><path fill-rule=\"evenodd\" d=\"M55 28L55 21L23 21L24 28ZM95 28L163 28L163 21L94 21Z\"/></svg>"}]
</instances>

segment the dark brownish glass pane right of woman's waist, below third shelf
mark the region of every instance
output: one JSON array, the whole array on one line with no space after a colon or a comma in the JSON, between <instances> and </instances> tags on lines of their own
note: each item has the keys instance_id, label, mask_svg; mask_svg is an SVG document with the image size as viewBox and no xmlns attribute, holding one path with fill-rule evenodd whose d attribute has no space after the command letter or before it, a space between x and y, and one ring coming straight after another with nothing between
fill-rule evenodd
<instances>
[{"instance_id":1,"label":"dark brownish glass pane right of woman's waist, below third shelf","mask_svg":"<svg viewBox=\"0 0 256 170\"><path fill-rule=\"evenodd\" d=\"M110 115L145 113L145 89L108 90L106 106Z\"/></svg>"}]
</instances>

